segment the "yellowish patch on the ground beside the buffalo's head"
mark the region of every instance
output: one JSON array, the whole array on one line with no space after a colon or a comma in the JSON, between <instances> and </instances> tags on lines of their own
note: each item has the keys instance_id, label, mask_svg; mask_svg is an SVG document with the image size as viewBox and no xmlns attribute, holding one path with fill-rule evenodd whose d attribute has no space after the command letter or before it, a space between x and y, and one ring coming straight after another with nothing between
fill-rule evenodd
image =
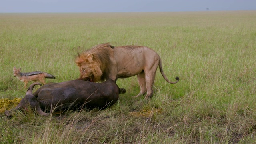
<instances>
[{"instance_id":1,"label":"yellowish patch on the ground beside the buffalo's head","mask_svg":"<svg viewBox=\"0 0 256 144\"><path fill-rule=\"evenodd\" d=\"M0 114L17 106L20 100L21 98L14 98L13 100L9 100L8 98L0 99Z\"/></svg>"}]
</instances>

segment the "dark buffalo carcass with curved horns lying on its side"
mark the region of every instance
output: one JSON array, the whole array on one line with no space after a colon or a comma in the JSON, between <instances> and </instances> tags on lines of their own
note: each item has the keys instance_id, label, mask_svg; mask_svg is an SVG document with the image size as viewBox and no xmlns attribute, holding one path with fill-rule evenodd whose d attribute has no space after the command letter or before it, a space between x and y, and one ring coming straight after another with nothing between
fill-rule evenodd
<instances>
[{"instance_id":1,"label":"dark buffalo carcass with curved horns lying on its side","mask_svg":"<svg viewBox=\"0 0 256 144\"><path fill-rule=\"evenodd\" d=\"M6 116L11 116L15 110L25 112L28 107L44 116L50 114L46 112L55 110L83 107L104 109L114 104L121 92L120 88L111 79L103 83L93 83L82 79L49 83L32 94L35 85L40 85L40 83L31 84L18 106L6 111Z\"/></svg>"}]
</instances>

